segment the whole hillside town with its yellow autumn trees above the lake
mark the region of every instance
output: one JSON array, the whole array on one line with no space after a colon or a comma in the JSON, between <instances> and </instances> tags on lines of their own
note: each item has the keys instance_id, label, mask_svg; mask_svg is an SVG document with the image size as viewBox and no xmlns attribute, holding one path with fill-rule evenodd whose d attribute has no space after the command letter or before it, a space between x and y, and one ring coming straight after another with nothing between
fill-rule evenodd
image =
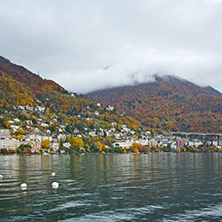
<instances>
[{"instance_id":1,"label":"whole hillside town with its yellow autumn trees above the lake","mask_svg":"<svg viewBox=\"0 0 222 222\"><path fill-rule=\"evenodd\" d=\"M109 152L217 152L222 151L219 138L181 138L169 133L130 128L111 122L101 126L98 110L113 113L114 107L97 109L87 106L76 116L81 123L72 128L61 122L44 106L13 106L1 111L0 150L2 154L109 153ZM87 111L88 110L88 111ZM123 116L124 114L120 114ZM86 127L88 126L88 127Z\"/></svg>"}]
</instances>

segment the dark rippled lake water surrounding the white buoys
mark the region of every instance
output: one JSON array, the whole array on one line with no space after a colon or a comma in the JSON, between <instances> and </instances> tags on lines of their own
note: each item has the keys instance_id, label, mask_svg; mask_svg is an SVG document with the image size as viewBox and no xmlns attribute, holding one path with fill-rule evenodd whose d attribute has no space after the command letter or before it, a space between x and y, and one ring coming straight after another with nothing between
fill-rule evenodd
<instances>
[{"instance_id":1,"label":"dark rippled lake water surrounding the white buoys","mask_svg":"<svg viewBox=\"0 0 222 222\"><path fill-rule=\"evenodd\" d=\"M220 153L0 156L0 174L0 221L222 221Z\"/></svg>"}]
</instances>

